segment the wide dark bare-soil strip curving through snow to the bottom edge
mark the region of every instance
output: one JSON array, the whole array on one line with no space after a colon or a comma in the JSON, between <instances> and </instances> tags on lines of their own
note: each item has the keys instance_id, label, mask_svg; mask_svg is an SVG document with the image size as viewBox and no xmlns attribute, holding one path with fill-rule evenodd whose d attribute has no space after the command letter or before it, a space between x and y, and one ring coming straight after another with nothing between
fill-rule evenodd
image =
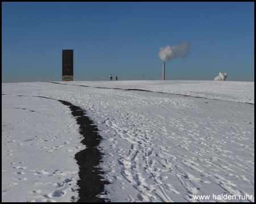
<instances>
[{"instance_id":1,"label":"wide dark bare-soil strip curving through snow to the bottom edge","mask_svg":"<svg viewBox=\"0 0 256 204\"><path fill-rule=\"evenodd\" d=\"M50 97L44 96L32 97L43 97L46 99L52 99ZM97 132L97 126L94 125L93 121L85 115L85 110L69 103L68 101L57 101L64 105L67 105L71 109L71 114L76 118L77 124L80 126L79 133L84 136L84 139L82 139L81 143L86 146L85 150L81 150L75 155L75 159L77 160L77 164L79 164L80 169L80 180L77 181L77 185L80 187L78 189L79 199L77 200L77 202L110 202L108 199L97 197L98 194L107 194L103 190L104 185L110 184L110 182L105 181L104 177L101 176L105 173L104 171L102 171L102 168L97 167L98 164L102 162L102 156L104 155L98 149L98 147L100 147L102 137Z\"/></svg>"}]
</instances>

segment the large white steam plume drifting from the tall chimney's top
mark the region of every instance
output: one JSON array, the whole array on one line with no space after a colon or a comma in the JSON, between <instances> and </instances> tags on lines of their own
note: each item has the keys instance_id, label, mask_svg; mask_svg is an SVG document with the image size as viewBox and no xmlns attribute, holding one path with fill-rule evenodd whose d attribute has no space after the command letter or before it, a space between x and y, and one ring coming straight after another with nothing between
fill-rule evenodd
<instances>
[{"instance_id":1,"label":"large white steam plume drifting from the tall chimney's top","mask_svg":"<svg viewBox=\"0 0 256 204\"><path fill-rule=\"evenodd\" d=\"M167 45L165 48L160 48L158 56L163 62L169 61L170 59L173 60L177 57L186 57L190 47L190 42L187 41L180 42L179 45Z\"/></svg>"}]
</instances>

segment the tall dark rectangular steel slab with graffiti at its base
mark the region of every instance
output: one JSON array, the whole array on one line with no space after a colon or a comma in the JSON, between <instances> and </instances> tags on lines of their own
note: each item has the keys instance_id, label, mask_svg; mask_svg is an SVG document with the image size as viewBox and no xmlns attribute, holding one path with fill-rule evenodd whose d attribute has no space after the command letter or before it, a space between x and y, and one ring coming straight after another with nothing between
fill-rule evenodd
<instances>
[{"instance_id":1,"label":"tall dark rectangular steel slab with graffiti at its base","mask_svg":"<svg viewBox=\"0 0 256 204\"><path fill-rule=\"evenodd\" d=\"M62 50L62 80L72 81L73 76L73 50Z\"/></svg>"}]
</instances>

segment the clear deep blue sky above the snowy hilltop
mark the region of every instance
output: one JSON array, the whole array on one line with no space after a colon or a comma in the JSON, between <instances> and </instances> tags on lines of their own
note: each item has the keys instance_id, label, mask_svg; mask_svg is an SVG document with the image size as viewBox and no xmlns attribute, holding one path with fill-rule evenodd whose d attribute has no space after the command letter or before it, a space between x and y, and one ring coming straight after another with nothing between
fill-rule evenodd
<instances>
[{"instance_id":1,"label":"clear deep blue sky above the snowy hilltop","mask_svg":"<svg viewBox=\"0 0 256 204\"><path fill-rule=\"evenodd\" d=\"M254 82L254 2L2 2L2 83L162 79L159 48L191 42L166 80Z\"/></svg>"}]
</instances>

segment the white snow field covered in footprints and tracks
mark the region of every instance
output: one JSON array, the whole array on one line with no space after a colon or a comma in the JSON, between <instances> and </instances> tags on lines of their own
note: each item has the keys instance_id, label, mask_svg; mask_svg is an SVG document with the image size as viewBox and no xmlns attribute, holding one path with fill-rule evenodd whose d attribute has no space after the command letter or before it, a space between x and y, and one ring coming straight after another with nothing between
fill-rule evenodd
<instances>
[{"instance_id":1,"label":"white snow field covered in footprints and tracks","mask_svg":"<svg viewBox=\"0 0 256 204\"><path fill-rule=\"evenodd\" d=\"M86 147L57 100L84 109L103 138L110 184L98 197L254 202L254 82L182 80L2 83L2 202L79 198Z\"/></svg>"}]
</instances>

